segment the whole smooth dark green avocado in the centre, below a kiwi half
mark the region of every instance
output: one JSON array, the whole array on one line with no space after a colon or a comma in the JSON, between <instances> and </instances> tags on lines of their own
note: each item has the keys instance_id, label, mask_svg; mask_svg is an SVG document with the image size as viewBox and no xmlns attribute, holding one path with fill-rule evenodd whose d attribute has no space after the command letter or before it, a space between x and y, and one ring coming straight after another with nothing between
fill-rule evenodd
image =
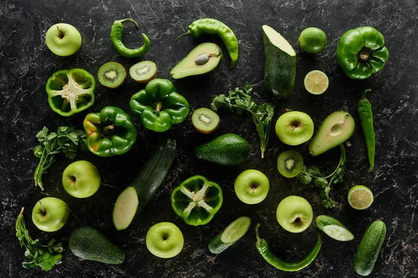
<instances>
[{"instance_id":1,"label":"whole smooth dark green avocado in the centre, below a kiwi half","mask_svg":"<svg viewBox=\"0 0 418 278\"><path fill-rule=\"evenodd\" d=\"M220 165L237 165L249 154L248 142L233 133L226 133L206 144L196 147L197 158Z\"/></svg>"}]
</instances>

